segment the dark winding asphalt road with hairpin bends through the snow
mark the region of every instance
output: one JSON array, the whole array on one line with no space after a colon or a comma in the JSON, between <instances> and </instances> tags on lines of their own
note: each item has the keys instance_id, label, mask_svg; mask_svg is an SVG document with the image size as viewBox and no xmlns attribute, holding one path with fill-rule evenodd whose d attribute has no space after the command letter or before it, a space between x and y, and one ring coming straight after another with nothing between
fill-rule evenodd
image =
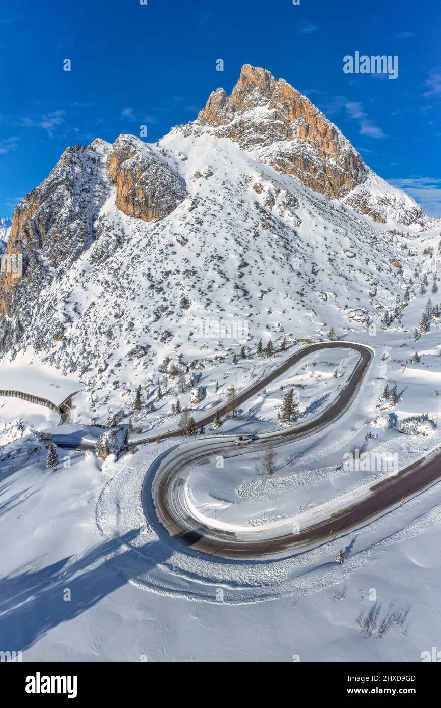
<instances>
[{"instance_id":1,"label":"dark winding asphalt road with hairpin bends through the snow","mask_svg":"<svg viewBox=\"0 0 441 708\"><path fill-rule=\"evenodd\" d=\"M358 492L358 497L353 494L346 500L341 499L340 508L331 502L315 513L299 514L263 527L239 527L198 513L188 487L188 479L197 464L207 463L217 455L224 458L244 455L261 447L278 447L314 435L335 423L348 410L374 355L370 348L354 343L323 342L302 348L279 370L272 372L265 382L261 379L258 389L305 356L326 348L355 350L360 353L360 360L333 404L314 420L295 428L260 435L256 442L244 448L237 447L232 436L204 438L173 448L151 465L144 478L142 505L147 519L155 520L155 530L164 542L183 550L191 548L193 552L224 559L257 560L288 556L371 523L440 479L441 455L440 450L436 450L432 455L419 459L398 473L394 471L393 476L386 476ZM256 387L252 389L255 393Z\"/></svg>"}]
</instances>

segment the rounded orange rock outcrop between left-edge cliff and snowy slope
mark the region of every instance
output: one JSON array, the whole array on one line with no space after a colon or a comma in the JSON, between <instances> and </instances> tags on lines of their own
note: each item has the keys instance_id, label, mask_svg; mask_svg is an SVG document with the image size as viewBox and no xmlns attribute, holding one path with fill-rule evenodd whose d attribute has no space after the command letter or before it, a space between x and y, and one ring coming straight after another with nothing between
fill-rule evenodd
<instances>
[{"instance_id":1,"label":"rounded orange rock outcrop between left-edge cliff and snowy slope","mask_svg":"<svg viewBox=\"0 0 441 708\"><path fill-rule=\"evenodd\" d=\"M133 135L120 135L107 158L110 181L115 184L115 205L144 221L164 219L186 197L183 180Z\"/></svg>"}]
</instances>

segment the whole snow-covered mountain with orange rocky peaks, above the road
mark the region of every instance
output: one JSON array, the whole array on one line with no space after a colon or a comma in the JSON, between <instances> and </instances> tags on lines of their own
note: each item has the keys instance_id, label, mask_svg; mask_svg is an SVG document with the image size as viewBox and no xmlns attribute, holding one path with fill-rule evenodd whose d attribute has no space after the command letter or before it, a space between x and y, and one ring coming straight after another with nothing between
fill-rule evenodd
<instances>
[{"instance_id":1,"label":"whole snow-covered mountain with orange rocky peaks, above the road","mask_svg":"<svg viewBox=\"0 0 441 708\"><path fill-rule=\"evenodd\" d=\"M386 226L359 213L372 214L367 200ZM418 219L307 99L244 67L194 123L156 145L69 147L20 202L7 252L22 253L24 275L1 276L0 353L28 350L79 375L92 408L109 389L123 407L179 350L232 355L239 341L206 321L246 331L251 350L330 324L366 331L406 307Z\"/></svg>"}]
</instances>

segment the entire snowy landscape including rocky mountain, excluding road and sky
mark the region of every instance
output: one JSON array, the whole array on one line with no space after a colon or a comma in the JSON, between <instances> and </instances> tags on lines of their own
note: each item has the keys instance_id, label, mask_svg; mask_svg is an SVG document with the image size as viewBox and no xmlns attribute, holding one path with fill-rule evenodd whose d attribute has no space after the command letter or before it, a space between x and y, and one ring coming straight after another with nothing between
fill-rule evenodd
<instances>
[{"instance_id":1,"label":"entire snowy landscape including rocky mountain, excluding road and sky","mask_svg":"<svg viewBox=\"0 0 441 708\"><path fill-rule=\"evenodd\" d=\"M25 272L1 275L1 379L57 403L79 391L62 428L48 409L0 401L0 648L23 661L420 661L437 645L439 484L271 563L182 552L142 506L155 459L200 440L161 440L178 425L178 396L200 419L231 384L280 365L285 338L292 351L332 327L375 352L353 405L277 448L274 474L256 452L222 468L195 459L200 513L250 528L309 518L389 474L377 462L345 469L349 452L403 467L441 442L439 228L428 232L307 99L263 70L243 74L234 101L215 92L206 116L156 145L121 135L68 148L16 209L7 249ZM274 357L258 355L260 340ZM288 389L300 421L316 416L353 365L349 352L311 356L214 433L274 430ZM78 442L100 433L88 423L130 420L158 443L105 461L59 448L57 468L45 467L38 430ZM365 636L372 607L379 624Z\"/></svg>"}]
</instances>

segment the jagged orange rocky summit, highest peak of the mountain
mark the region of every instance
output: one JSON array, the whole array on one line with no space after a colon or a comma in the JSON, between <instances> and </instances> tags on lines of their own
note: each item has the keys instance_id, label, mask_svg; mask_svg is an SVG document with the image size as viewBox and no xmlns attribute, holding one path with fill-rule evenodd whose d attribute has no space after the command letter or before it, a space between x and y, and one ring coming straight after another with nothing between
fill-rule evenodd
<instances>
[{"instance_id":1,"label":"jagged orange rocky summit, highest peak of the mountain","mask_svg":"<svg viewBox=\"0 0 441 708\"><path fill-rule=\"evenodd\" d=\"M360 154L306 96L283 79L246 64L227 96L217 89L197 116L218 137L229 137L281 173L297 177L326 198L344 200L353 209L386 223L425 227L421 207L380 180ZM382 183L372 193L372 179Z\"/></svg>"}]
</instances>

